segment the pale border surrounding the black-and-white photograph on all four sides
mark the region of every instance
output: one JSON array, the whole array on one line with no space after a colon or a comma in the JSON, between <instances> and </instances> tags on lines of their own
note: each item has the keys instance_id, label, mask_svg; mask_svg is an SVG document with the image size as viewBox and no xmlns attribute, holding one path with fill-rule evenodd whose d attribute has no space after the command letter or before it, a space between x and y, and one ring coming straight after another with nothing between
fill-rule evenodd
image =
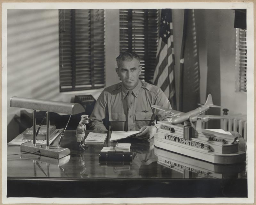
<instances>
[{"instance_id":1,"label":"pale border surrounding the black-and-white photograph on all four sides","mask_svg":"<svg viewBox=\"0 0 256 205\"><path fill-rule=\"evenodd\" d=\"M247 9L248 198L6 198L7 185L7 10L82 8ZM253 203L254 202L254 39L253 3L2 3L2 190L3 203ZM253 43L252 43L253 42Z\"/></svg>"}]
</instances>

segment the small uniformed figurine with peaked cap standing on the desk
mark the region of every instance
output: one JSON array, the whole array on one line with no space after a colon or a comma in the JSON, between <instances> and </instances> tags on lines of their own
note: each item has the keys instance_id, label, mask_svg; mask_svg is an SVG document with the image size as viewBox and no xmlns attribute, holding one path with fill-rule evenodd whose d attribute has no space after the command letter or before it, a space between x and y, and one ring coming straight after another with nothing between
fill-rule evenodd
<instances>
[{"instance_id":1,"label":"small uniformed figurine with peaked cap standing on the desk","mask_svg":"<svg viewBox=\"0 0 256 205\"><path fill-rule=\"evenodd\" d=\"M85 124L89 123L89 116L84 114L81 116L81 121L79 122L76 128L76 142L77 142L77 149L84 151L84 147L88 147L87 144L84 144L84 132L86 130Z\"/></svg>"}]
</instances>

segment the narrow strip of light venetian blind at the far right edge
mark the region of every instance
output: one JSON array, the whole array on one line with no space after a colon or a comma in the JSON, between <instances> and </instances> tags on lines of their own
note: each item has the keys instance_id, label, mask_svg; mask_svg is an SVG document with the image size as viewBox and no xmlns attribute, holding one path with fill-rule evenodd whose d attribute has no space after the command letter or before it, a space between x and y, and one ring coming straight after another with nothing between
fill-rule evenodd
<instances>
[{"instance_id":1,"label":"narrow strip of light venetian blind at the far right edge","mask_svg":"<svg viewBox=\"0 0 256 205\"><path fill-rule=\"evenodd\" d=\"M238 75L238 91L247 92L246 75L247 75L247 48L246 48L246 30L237 29L238 50L239 52L239 75Z\"/></svg>"}]
</instances>

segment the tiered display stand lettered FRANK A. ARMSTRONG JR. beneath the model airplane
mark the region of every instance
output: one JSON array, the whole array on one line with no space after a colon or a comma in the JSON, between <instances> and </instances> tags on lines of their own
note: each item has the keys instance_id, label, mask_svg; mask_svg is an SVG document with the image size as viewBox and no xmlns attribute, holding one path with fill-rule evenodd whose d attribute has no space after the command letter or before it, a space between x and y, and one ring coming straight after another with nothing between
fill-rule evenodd
<instances>
[{"instance_id":1,"label":"tiered display stand lettered FRANK A. ARMSTRONG JR. beneath the model airplane","mask_svg":"<svg viewBox=\"0 0 256 205\"><path fill-rule=\"evenodd\" d=\"M158 121L154 146L215 164L236 164L245 161L245 152L238 147L237 136L202 129L201 121L175 124Z\"/></svg>"}]
</instances>

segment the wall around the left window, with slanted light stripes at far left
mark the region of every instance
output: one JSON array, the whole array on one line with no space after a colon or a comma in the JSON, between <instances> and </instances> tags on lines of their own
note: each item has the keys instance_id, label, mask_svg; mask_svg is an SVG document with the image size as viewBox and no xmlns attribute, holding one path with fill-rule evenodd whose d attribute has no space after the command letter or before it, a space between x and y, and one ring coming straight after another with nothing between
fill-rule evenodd
<instances>
[{"instance_id":1,"label":"wall around the left window, with slanted light stripes at far left","mask_svg":"<svg viewBox=\"0 0 256 205\"><path fill-rule=\"evenodd\" d=\"M107 86L119 82L115 75L115 58L119 53L119 24L115 21L118 15L119 10L106 11ZM7 81L7 141L19 134L18 117L23 110L10 108L12 96L72 102L75 95L82 94L92 94L97 99L103 90L59 92L58 10L8 10Z\"/></svg>"}]
</instances>

